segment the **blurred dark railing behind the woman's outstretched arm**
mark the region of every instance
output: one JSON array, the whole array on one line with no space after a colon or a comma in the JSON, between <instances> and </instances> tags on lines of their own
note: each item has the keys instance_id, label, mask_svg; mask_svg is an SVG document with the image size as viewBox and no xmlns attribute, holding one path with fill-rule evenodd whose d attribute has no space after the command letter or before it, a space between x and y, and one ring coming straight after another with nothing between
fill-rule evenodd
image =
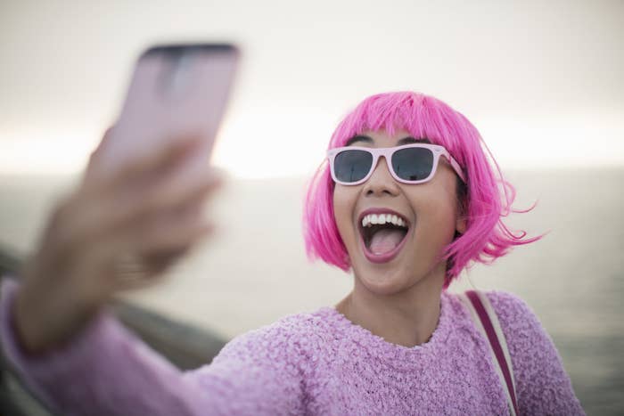
<instances>
[{"instance_id":1,"label":"blurred dark railing behind the woman's outstretched arm","mask_svg":"<svg viewBox=\"0 0 624 416\"><path fill-rule=\"evenodd\" d=\"M26 258L12 249L0 246L0 275L2 278L19 272ZM112 305L114 314L128 329L168 358L180 370L197 368L210 363L226 345L226 340L208 330L176 322L147 309L116 301ZM56 415L35 396L29 387L12 370L2 357L0 367L0 415L50 416ZM61 416L61 415L56 415Z\"/></svg>"}]
</instances>

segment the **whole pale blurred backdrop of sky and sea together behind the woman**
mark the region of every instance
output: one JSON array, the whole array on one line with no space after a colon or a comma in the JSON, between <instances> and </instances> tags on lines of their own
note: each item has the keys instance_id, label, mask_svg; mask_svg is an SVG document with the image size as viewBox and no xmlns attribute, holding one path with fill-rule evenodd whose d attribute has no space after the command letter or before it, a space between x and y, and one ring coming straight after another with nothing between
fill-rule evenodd
<instances>
[{"instance_id":1,"label":"whole pale blurred backdrop of sky and sea together behind the woman","mask_svg":"<svg viewBox=\"0 0 624 416\"><path fill-rule=\"evenodd\" d=\"M244 58L213 163L215 238L131 302L226 339L333 306L352 277L309 263L306 184L365 96L415 90L462 112L517 188L508 224L546 238L451 290L509 290L538 314L588 414L624 412L624 2L0 3L0 244L35 248L154 43Z\"/></svg>"}]
</instances>

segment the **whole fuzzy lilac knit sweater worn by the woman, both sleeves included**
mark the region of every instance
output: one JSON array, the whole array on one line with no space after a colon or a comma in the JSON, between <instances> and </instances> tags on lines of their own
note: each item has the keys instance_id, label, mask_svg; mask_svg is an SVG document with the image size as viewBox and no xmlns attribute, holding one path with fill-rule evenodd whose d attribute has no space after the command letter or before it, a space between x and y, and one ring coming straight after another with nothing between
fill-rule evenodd
<instances>
[{"instance_id":1,"label":"whole fuzzy lilac knit sweater worn by the woman, both sleeves included","mask_svg":"<svg viewBox=\"0 0 624 416\"><path fill-rule=\"evenodd\" d=\"M420 346L387 342L324 306L239 335L212 363L182 372L107 309L70 344L24 355L10 324L17 288L2 285L4 355L62 414L509 414L488 341L446 291ZM507 339L520 413L585 414L530 307L508 292L485 293Z\"/></svg>"}]
</instances>

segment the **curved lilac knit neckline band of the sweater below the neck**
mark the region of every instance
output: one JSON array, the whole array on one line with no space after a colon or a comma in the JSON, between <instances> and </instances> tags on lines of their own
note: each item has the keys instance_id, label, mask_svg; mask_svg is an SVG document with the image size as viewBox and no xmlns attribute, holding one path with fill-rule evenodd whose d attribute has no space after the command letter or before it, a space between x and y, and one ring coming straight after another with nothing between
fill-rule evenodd
<instances>
[{"instance_id":1,"label":"curved lilac knit neckline band of the sweater below the neck","mask_svg":"<svg viewBox=\"0 0 624 416\"><path fill-rule=\"evenodd\" d=\"M333 306L323 306L321 309L333 319L331 320L347 339L365 347L371 355L387 360L406 360L414 355L420 355L430 350L435 350L447 339L450 331L452 307L449 296L445 291L440 295L440 313L436 329L431 333L431 338L423 344L414 347L405 347L391 343L379 335L375 335L363 326L351 322L344 314L341 314Z\"/></svg>"}]
</instances>

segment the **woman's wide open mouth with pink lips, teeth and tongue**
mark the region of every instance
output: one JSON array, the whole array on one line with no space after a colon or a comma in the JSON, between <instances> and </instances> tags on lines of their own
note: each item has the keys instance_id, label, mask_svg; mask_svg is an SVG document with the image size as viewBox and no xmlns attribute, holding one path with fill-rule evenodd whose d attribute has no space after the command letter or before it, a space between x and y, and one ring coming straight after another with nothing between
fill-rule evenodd
<instances>
[{"instance_id":1,"label":"woman's wide open mouth with pink lips, teeth and tongue","mask_svg":"<svg viewBox=\"0 0 624 416\"><path fill-rule=\"evenodd\" d=\"M410 224L396 213L369 213L361 216L360 235L365 257L374 263L390 261L406 241Z\"/></svg>"}]
</instances>

